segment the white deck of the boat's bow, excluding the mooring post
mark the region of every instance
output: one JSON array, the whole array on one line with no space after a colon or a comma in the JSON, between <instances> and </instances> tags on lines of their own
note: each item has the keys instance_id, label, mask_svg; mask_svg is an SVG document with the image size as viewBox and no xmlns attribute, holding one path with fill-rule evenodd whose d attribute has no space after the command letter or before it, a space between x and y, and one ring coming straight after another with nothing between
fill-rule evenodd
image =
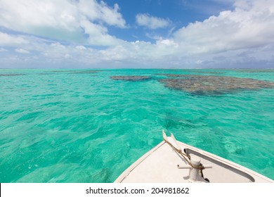
<instances>
[{"instance_id":1,"label":"white deck of the boat's bow, excluding the mooring post","mask_svg":"<svg viewBox=\"0 0 274 197\"><path fill-rule=\"evenodd\" d=\"M170 137L168 137L171 139ZM238 182L273 182L252 170L220 158L214 154L202 151L188 144L176 141L181 150L186 150L190 156L201 158L203 165L211 168L203 170L204 178L211 183ZM139 158L126 169L115 182L131 183L181 183L189 182L189 169L178 169L177 165L187 165L185 159L179 155L167 142L162 141L155 148ZM201 179L204 182L204 179Z\"/></svg>"}]
</instances>

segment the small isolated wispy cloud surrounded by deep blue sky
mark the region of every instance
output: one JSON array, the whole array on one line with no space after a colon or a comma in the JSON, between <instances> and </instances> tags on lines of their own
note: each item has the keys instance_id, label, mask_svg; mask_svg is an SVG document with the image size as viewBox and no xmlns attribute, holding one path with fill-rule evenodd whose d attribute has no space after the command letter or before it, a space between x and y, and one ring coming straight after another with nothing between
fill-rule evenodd
<instances>
[{"instance_id":1,"label":"small isolated wispy cloud surrounded by deep blue sky","mask_svg":"<svg viewBox=\"0 0 274 197\"><path fill-rule=\"evenodd\" d=\"M136 23L140 26L155 30L158 28L168 27L171 24L171 21L164 18L157 18L149 14L139 13L136 15Z\"/></svg>"}]
</instances>

